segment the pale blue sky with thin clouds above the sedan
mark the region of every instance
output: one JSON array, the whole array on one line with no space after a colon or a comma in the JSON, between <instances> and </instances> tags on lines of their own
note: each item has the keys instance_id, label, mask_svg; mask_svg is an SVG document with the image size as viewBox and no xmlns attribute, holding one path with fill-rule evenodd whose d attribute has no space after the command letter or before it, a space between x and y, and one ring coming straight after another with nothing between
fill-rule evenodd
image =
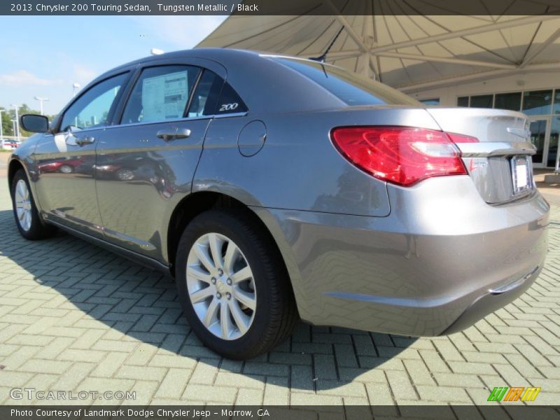
<instances>
[{"instance_id":1,"label":"pale blue sky with thin clouds above the sedan","mask_svg":"<svg viewBox=\"0 0 560 420\"><path fill-rule=\"evenodd\" d=\"M113 67L193 48L227 16L0 16L0 106L27 104L56 114L82 87Z\"/></svg>"}]
</instances>

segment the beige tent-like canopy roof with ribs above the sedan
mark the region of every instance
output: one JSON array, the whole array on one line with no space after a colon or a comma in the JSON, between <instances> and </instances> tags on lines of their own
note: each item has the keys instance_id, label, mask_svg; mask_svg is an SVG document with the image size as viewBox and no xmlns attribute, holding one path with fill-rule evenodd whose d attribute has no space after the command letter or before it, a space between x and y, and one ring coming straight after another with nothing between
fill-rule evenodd
<instances>
[{"instance_id":1,"label":"beige tent-like canopy roof with ribs above the sedan","mask_svg":"<svg viewBox=\"0 0 560 420\"><path fill-rule=\"evenodd\" d=\"M560 69L558 15L232 15L197 46L318 57L341 29L326 62L407 92Z\"/></svg>"}]
</instances>

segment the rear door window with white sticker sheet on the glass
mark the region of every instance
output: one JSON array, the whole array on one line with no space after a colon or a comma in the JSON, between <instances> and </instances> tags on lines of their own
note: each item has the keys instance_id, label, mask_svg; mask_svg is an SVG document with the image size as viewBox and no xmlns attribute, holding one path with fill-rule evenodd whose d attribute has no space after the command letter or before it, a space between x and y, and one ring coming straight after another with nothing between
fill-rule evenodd
<instances>
[{"instance_id":1,"label":"rear door window with white sticker sheet on the glass","mask_svg":"<svg viewBox=\"0 0 560 420\"><path fill-rule=\"evenodd\" d=\"M195 66L144 69L130 94L121 123L151 123L183 118L200 71Z\"/></svg>"}]
</instances>

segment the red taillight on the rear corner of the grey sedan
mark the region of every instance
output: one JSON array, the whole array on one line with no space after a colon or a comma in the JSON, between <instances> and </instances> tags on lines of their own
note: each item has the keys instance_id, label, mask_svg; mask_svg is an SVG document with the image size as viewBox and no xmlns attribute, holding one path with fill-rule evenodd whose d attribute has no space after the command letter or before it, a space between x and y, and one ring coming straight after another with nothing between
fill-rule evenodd
<instances>
[{"instance_id":1,"label":"red taillight on the rear corner of the grey sedan","mask_svg":"<svg viewBox=\"0 0 560 420\"><path fill-rule=\"evenodd\" d=\"M451 136L456 138L452 141ZM353 165L400 186L412 186L432 176L466 175L454 141L478 141L414 127L339 127L332 130L331 139Z\"/></svg>"}]
</instances>

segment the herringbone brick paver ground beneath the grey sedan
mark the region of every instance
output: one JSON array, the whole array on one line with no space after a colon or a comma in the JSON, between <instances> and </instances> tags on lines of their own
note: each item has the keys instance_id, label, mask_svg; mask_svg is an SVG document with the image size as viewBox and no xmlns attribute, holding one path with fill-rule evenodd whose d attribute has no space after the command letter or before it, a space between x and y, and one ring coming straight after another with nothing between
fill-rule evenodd
<instances>
[{"instance_id":1,"label":"herringbone brick paver ground beneath the grey sedan","mask_svg":"<svg viewBox=\"0 0 560 420\"><path fill-rule=\"evenodd\" d=\"M560 400L557 206L538 281L468 330L414 339L300 323L244 363L200 344L169 277L69 235L22 239L6 178L0 225L0 404L29 404L10 400L15 387L136 391L135 404L472 404L494 386L540 386L540 404Z\"/></svg>"}]
</instances>

